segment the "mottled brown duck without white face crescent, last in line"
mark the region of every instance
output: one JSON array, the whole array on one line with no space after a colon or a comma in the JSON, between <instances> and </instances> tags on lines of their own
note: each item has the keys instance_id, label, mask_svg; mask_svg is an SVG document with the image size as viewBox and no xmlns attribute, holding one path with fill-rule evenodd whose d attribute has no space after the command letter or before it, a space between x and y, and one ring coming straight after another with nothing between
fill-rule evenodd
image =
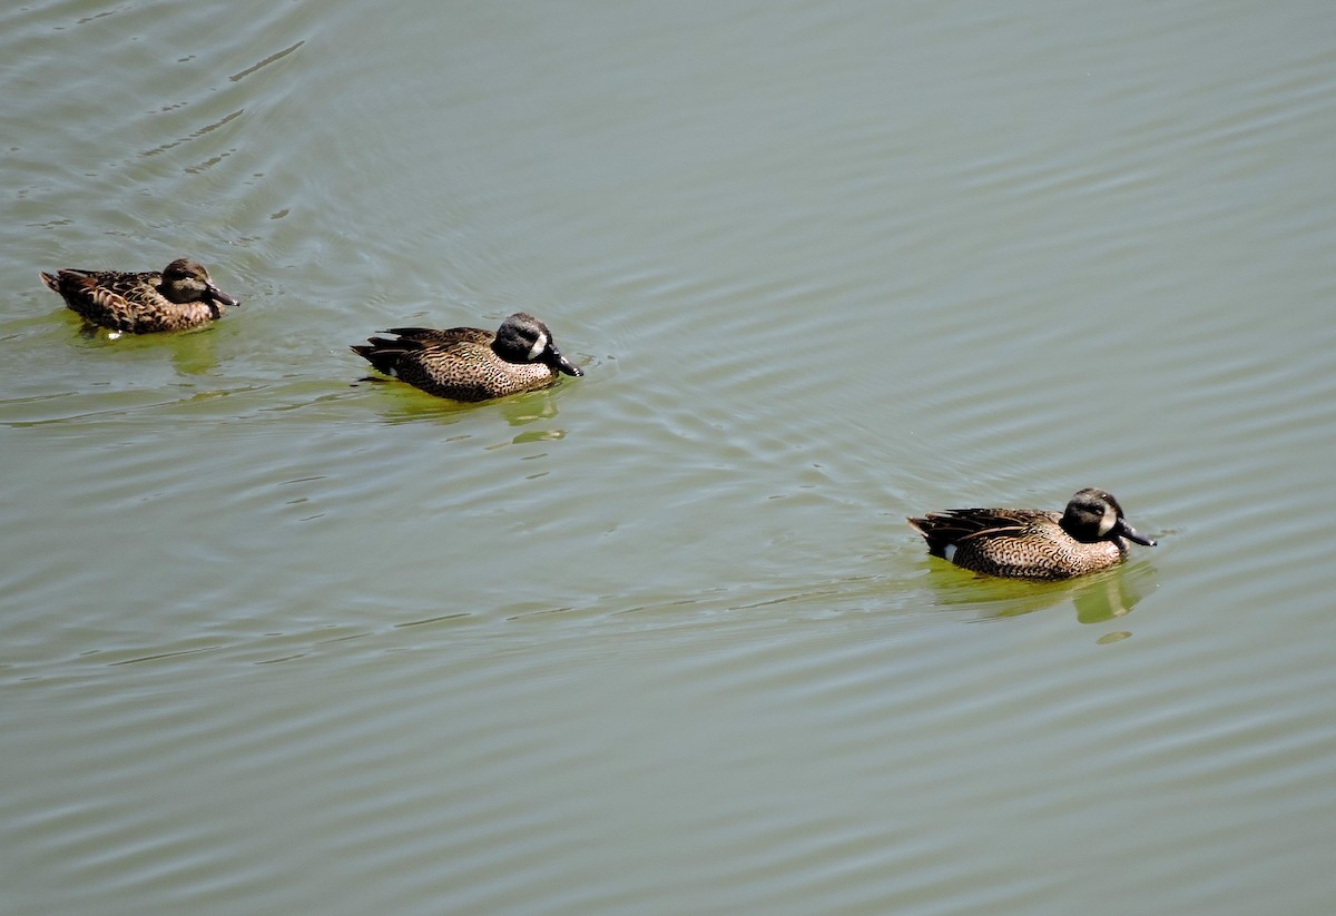
<instances>
[{"instance_id":1,"label":"mottled brown duck without white face crescent, last in line","mask_svg":"<svg viewBox=\"0 0 1336 916\"><path fill-rule=\"evenodd\" d=\"M84 320L114 331L151 334L207 324L224 306L239 306L219 290L198 260L178 258L162 271L127 274L114 270L41 272L48 290Z\"/></svg>"}]
</instances>

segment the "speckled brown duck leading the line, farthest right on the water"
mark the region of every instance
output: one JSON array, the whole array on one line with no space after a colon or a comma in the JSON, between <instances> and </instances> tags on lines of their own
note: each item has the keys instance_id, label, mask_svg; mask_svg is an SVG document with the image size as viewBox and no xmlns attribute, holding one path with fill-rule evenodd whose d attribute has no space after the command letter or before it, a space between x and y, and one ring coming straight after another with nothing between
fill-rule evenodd
<instances>
[{"instance_id":1,"label":"speckled brown duck leading the line, farthest right on the water","mask_svg":"<svg viewBox=\"0 0 1336 916\"><path fill-rule=\"evenodd\" d=\"M957 566L1010 578L1065 580L1108 569L1128 555L1128 541L1149 547L1122 506L1104 490L1079 490L1066 511L950 509L910 518L929 553Z\"/></svg>"}]
</instances>

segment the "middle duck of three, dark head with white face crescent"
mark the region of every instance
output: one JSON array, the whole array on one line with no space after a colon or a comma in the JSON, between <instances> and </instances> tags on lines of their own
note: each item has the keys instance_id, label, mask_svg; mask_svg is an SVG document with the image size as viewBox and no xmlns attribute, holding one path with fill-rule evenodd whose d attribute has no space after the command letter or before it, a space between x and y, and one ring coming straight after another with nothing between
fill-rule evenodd
<instances>
[{"instance_id":1,"label":"middle duck of three, dark head with white face crescent","mask_svg":"<svg viewBox=\"0 0 1336 916\"><path fill-rule=\"evenodd\" d=\"M488 401L556 385L558 373L584 375L557 350L552 331L533 315L516 312L497 332L480 327L391 327L357 345L375 369L452 401Z\"/></svg>"}]
</instances>

